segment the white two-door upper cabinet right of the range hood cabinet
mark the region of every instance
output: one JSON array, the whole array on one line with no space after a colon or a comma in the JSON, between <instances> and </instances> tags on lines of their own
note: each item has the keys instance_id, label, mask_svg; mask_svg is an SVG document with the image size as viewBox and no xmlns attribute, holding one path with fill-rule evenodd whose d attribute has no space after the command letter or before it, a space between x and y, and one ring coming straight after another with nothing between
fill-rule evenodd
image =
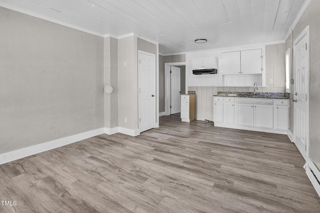
<instances>
[{"instance_id":1,"label":"white two-door upper cabinet right of the range hood cabinet","mask_svg":"<svg viewBox=\"0 0 320 213\"><path fill-rule=\"evenodd\" d=\"M222 52L222 75L261 74L262 49Z\"/></svg>"}]
</instances>

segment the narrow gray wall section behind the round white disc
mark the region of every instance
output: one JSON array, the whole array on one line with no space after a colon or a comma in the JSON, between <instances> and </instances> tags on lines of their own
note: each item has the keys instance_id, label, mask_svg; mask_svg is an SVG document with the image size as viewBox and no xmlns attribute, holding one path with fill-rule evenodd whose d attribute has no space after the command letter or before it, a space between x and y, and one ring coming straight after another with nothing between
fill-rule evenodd
<instances>
[{"instance_id":1,"label":"narrow gray wall section behind the round white disc","mask_svg":"<svg viewBox=\"0 0 320 213\"><path fill-rule=\"evenodd\" d=\"M104 94L104 127L118 126L118 40L104 38L104 86L111 86L111 94Z\"/></svg>"}]
</instances>

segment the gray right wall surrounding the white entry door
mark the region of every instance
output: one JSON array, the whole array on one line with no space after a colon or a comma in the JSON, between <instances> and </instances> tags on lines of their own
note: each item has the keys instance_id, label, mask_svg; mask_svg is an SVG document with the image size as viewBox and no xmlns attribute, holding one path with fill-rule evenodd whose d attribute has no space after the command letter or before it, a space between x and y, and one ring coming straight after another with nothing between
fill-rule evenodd
<instances>
[{"instance_id":1,"label":"gray right wall surrounding the white entry door","mask_svg":"<svg viewBox=\"0 0 320 213\"><path fill-rule=\"evenodd\" d=\"M320 16L319 16L320 1L312 0L300 20L296 24L292 32L293 41L300 32L309 25L309 51L310 51L310 77L309 77L309 158L320 170ZM292 49L291 38L286 41L286 49ZM293 88L291 87L291 91ZM290 102L292 103L292 102ZM293 108L292 106L290 106ZM293 121L293 113L290 112L290 120ZM290 130L293 126L290 127Z\"/></svg>"}]
</instances>

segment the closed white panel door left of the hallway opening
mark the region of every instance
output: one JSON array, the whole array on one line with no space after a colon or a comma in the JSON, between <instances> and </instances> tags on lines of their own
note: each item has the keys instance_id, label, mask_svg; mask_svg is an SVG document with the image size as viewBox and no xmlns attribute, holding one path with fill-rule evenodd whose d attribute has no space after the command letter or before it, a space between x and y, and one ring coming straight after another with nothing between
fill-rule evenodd
<instances>
[{"instance_id":1,"label":"closed white panel door left of the hallway opening","mask_svg":"<svg viewBox=\"0 0 320 213\"><path fill-rule=\"evenodd\" d=\"M154 127L155 117L155 56L139 51L138 63L138 108L139 130L144 132Z\"/></svg>"}]
</instances>

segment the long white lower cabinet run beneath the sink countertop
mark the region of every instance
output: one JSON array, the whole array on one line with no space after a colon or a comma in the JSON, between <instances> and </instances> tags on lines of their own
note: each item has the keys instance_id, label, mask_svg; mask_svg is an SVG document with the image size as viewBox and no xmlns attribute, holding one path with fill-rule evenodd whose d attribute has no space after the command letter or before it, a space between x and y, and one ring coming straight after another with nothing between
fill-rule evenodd
<instances>
[{"instance_id":1,"label":"long white lower cabinet run beneath the sink countertop","mask_svg":"<svg viewBox=\"0 0 320 213\"><path fill-rule=\"evenodd\" d=\"M287 99L213 97L214 126L287 134L288 112Z\"/></svg>"}]
</instances>

